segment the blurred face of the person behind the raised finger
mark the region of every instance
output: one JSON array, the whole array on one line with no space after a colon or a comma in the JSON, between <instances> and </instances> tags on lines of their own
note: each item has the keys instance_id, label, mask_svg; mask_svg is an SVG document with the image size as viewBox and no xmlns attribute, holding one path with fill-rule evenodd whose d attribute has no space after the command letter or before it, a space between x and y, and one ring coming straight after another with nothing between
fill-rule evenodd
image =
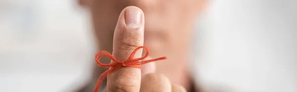
<instances>
[{"instance_id":1,"label":"blurred face of the person behind the raised finger","mask_svg":"<svg viewBox=\"0 0 297 92\"><path fill-rule=\"evenodd\" d=\"M172 82L186 84L188 50L192 45L193 24L204 0L82 0L92 12L100 50L112 51L113 31L126 6L137 6L145 14L145 46L152 58L167 56L157 63L157 73ZM106 60L110 62L110 60Z\"/></svg>"}]
</instances>

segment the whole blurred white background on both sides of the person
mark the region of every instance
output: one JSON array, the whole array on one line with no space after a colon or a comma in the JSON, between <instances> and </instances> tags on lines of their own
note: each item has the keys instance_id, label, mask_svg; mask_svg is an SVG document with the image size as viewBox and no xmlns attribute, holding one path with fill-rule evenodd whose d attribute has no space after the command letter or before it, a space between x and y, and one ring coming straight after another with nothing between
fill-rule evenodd
<instances>
[{"instance_id":1,"label":"whole blurred white background on both sides of the person","mask_svg":"<svg viewBox=\"0 0 297 92\"><path fill-rule=\"evenodd\" d=\"M211 0L192 70L205 88L297 92L297 0ZM75 0L0 0L0 92L73 92L96 41Z\"/></svg>"}]
</instances>

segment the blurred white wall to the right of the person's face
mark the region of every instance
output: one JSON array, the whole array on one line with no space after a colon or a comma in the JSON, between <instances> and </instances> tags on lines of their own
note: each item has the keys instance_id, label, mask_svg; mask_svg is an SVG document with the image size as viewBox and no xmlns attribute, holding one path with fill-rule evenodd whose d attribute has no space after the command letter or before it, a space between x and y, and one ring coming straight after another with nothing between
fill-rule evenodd
<instances>
[{"instance_id":1,"label":"blurred white wall to the right of the person's face","mask_svg":"<svg viewBox=\"0 0 297 92\"><path fill-rule=\"evenodd\" d=\"M297 92L296 4L210 2L197 34L200 81L235 92Z\"/></svg>"}]
</instances>

